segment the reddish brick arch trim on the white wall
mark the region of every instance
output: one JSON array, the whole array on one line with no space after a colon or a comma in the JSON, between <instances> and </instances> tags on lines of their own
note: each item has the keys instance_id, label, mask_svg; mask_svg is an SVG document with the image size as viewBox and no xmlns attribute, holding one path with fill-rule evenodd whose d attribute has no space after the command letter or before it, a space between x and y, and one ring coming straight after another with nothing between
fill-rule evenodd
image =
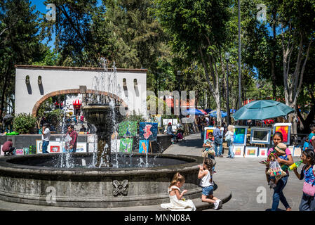
<instances>
[{"instance_id":1,"label":"reddish brick arch trim on the white wall","mask_svg":"<svg viewBox=\"0 0 315 225\"><path fill-rule=\"evenodd\" d=\"M50 98L53 96L58 96L61 94L102 94L104 96L109 96L111 98L115 98L117 101L120 101L124 107L127 107L127 104L121 98L119 98L119 96L116 96L115 94L112 94L112 93L109 93L106 91L96 91L96 90L87 89L86 92L82 93L80 91L80 89L67 89L67 90L53 91L53 92L48 93L48 94L44 95L43 97L41 97L39 99L39 101L37 101L35 103L33 110L32 110L32 115L34 115L34 117L36 117L37 111L39 110L39 106L47 98Z\"/></svg>"}]
</instances>

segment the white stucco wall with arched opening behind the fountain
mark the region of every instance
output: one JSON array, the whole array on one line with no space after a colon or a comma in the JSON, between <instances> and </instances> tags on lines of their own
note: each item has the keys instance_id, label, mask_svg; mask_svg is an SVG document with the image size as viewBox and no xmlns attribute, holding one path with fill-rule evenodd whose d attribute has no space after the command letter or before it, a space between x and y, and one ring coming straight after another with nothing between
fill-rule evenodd
<instances>
[{"instance_id":1,"label":"white stucco wall with arched opening behind the fountain","mask_svg":"<svg viewBox=\"0 0 315 225\"><path fill-rule=\"evenodd\" d=\"M72 68L58 66L15 65L15 114L36 115L39 105L59 94L88 94L95 91L95 80L105 85L102 94L115 94L129 112L146 115L147 70L116 69L116 84L108 86L109 75L103 68ZM101 82L100 82L101 83ZM112 83L112 82L111 82ZM100 85L100 84L99 84ZM129 113L129 114L130 114Z\"/></svg>"}]
</instances>

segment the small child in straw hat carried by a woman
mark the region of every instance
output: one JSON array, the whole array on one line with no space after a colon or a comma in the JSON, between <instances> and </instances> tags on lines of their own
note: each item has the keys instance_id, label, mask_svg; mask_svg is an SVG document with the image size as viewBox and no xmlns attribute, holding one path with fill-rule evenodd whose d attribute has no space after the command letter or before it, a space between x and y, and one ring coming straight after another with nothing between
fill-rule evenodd
<instances>
[{"instance_id":1,"label":"small child in straw hat carried by a woman","mask_svg":"<svg viewBox=\"0 0 315 225\"><path fill-rule=\"evenodd\" d=\"M283 155L286 155L286 144L284 143L278 143L275 147L274 150L268 155L268 160L267 163L270 165L277 163L276 161L278 161L278 157L282 157ZM287 165L282 165L281 166L282 170L287 170L288 166ZM269 170L270 171L270 170ZM286 176L285 172L281 172L279 174L276 174L276 176L270 176L270 181L269 181L269 186L270 188L275 188L277 182L279 181L279 179L281 179L282 176Z\"/></svg>"}]
</instances>

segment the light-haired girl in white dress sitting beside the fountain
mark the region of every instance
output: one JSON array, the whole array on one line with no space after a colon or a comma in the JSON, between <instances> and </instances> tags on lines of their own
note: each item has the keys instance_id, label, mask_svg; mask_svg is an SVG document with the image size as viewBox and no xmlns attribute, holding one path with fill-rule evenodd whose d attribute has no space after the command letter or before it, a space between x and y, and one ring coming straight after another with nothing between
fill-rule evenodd
<instances>
[{"instance_id":1,"label":"light-haired girl in white dress sitting beside the fountain","mask_svg":"<svg viewBox=\"0 0 315 225\"><path fill-rule=\"evenodd\" d=\"M161 204L161 207L171 211L196 211L196 207L192 200L185 200L182 198L187 190L180 192L180 188L185 184L185 177L180 173L176 173L173 176L173 180L170 182L168 187L168 193L170 197L170 203Z\"/></svg>"}]
</instances>

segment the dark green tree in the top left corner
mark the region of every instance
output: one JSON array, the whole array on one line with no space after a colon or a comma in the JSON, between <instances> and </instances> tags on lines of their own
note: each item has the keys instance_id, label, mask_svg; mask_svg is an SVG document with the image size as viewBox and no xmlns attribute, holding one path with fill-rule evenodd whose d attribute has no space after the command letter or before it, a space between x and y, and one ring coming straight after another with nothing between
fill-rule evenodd
<instances>
[{"instance_id":1,"label":"dark green tree in the top left corner","mask_svg":"<svg viewBox=\"0 0 315 225\"><path fill-rule=\"evenodd\" d=\"M16 64L32 64L43 52L39 36L39 13L28 0L0 1L0 120L12 98Z\"/></svg>"}]
</instances>

